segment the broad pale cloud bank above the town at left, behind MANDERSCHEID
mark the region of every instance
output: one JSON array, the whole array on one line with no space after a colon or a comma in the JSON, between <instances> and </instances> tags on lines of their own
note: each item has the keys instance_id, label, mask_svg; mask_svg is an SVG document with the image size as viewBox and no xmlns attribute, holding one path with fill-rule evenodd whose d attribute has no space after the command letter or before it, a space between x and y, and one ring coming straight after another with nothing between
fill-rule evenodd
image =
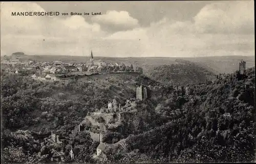
<instances>
[{"instance_id":1,"label":"broad pale cloud bank above the town at left, behind MANDERSCHEID","mask_svg":"<svg viewBox=\"0 0 256 164\"><path fill-rule=\"evenodd\" d=\"M66 19L50 16L11 16L11 12L41 11L35 3L3 3L1 5L1 49L7 54L82 55L91 49L90 40L104 32L97 23L90 24L81 16ZM2 53L1 53L2 55ZM3 54L4 55L4 54Z\"/></svg>"}]
</instances>

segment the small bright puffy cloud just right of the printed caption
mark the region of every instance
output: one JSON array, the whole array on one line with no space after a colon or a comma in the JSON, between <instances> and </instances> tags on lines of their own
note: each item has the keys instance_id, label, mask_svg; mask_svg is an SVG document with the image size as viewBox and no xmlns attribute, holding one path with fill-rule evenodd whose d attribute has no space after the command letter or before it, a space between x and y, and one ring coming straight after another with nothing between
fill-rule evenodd
<instances>
[{"instance_id":1,"label":"small bright puffy cloud just right of the printed caption","mask_svg":"<svg viewBox=\"0 0 256 164\"><path fill-rule=\"evenodd\" d=\"M106 14L92 17L92 21L109 31L131 30L139 26L139 21L131 17L127 11L107 11Z\"/></svg>"}]
</instances>

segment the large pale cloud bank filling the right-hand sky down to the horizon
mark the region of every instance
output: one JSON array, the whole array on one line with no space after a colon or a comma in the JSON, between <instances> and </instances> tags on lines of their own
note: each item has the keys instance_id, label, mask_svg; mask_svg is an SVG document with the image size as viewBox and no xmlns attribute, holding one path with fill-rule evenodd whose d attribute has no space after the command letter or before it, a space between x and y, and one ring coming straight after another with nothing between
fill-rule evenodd
<instances>
[{"instance_id":1,"label":"large pale cloud bank filling the right-hand sky down to the horizon","mask_svg":"<svg viewBox=\"0 0 256 164\"><path fill-rule=\"evenodd\" d=\"M181 22L164 17L147 28L117 32L108 38L136 41L134 46L141 44L144 49L141 56L252 56L254 19L251 3L214 3L202 8L194 21ZM142 38L139 43L138 38Z\"/></svg>"}]
</instances>

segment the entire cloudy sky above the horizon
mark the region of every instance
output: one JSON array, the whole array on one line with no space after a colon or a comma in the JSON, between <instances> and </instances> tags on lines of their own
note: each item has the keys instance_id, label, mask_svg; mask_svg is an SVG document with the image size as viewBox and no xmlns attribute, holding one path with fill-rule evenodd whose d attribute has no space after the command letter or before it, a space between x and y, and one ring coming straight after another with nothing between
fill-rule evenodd
<instances>
[{"instance_id":1,"label":"entire cloudy sky above the horizon","mask_svg":"<svg viewBox=\"0 0 256 164\"><path fill-rule=\"evenodd\" d=\"M254 56L253 1L1 2L0 16L1 56Z\"/></svg>"}]
</instances>

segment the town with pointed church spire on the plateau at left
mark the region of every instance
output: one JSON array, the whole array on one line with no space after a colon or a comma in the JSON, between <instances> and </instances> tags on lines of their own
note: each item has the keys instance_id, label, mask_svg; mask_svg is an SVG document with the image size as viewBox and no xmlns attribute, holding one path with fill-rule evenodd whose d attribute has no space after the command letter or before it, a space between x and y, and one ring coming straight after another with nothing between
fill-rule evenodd
<instances>
[{"instance_id":1,"label":"town with pointed church spire on the plateau at left","mask_svg":"<svg viewBox=\"0 0 256 164\"><path fill-rule=\"evenodd\" d=\"M23 52L15 52L13 55ZM59 81L63 77L74 77L104 73L136 73L140 72L141 68L133 65L125 66L119 62L105 62L103 60L95 60L93 51L91 50L91 59L86 62L37 62L29 60L28 62L22 61L19 58L5 59L1 61L2 65L9 65L5 71L9 74L30 75L31 78L40 81Z\"/></svg>"}]
</instances>

